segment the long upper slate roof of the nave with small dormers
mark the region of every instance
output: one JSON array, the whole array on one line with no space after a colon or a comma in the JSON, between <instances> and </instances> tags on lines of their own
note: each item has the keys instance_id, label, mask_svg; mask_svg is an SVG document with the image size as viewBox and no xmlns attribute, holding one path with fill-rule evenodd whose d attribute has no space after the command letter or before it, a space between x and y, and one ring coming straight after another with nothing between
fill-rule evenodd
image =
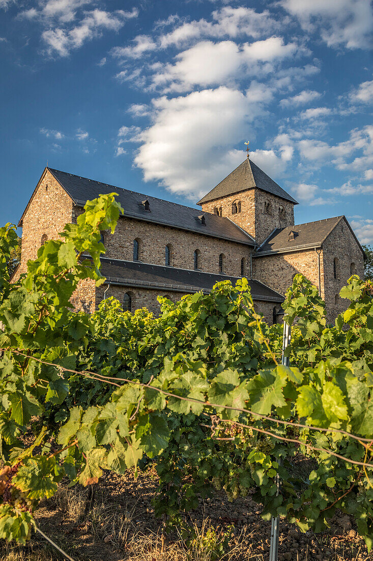
<instances>
[{"instance_id":1,"label":"long upper slate roof of the nave with small dormers","mask_svg":"<svg viewBox=\"0 0 373 561\"><path fill-rule=\"evenodd\" d=\"M201 209L170 203L170 201L129 191L122 187L115 187L72 173L61 172L58 169L48 169L78 206L85 205L87 200L95 199L99 195L115 192L118 193L116 200L123 206L124 216L197 232L204 234L204 236L213 236L250 246L256 245L254 239L248 233L245 233L228 218L204 213L206 222L206 226L204 226L201 221ZM145 200L150 205L150 212L142 204Z\"/></svg>"}]
</instances>

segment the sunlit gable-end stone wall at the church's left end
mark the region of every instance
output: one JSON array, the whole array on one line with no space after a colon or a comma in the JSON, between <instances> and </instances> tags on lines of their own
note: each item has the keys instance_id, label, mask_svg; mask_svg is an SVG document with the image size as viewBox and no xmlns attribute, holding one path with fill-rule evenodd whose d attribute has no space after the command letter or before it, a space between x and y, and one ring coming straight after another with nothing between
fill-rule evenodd
<instances>
[{"instance_id":1,"label":"sunlit gable-end stone wall at the church's left end","mask_svg":"<svg viewBox=\"0 0 373 561\"><path fill-rule=\"evenodd\" d=\"M57 240L65 224L72 222L73 203L66 191L46 170L22 220L21 264L17 275L26 272L29 259L36 259L42 237Z\"/></svg>"}]
</instances>

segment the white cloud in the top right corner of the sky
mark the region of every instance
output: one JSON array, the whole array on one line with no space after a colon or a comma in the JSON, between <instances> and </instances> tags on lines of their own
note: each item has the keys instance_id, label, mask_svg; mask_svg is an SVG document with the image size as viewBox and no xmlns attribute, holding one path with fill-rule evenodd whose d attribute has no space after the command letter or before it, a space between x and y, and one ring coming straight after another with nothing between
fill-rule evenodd
<instances>
[{"instance_id":1,"label":"white cloud in the top right corner of the sky","mask_svg":"<svg viewBox=\"0 0 373 561\"><path fill-rule=\"evenodd\" d=\"M373 10L370 0L282 0L302 29L320 33L329 47L348 49L371 46Z\"/></svg>"}]
</instances>

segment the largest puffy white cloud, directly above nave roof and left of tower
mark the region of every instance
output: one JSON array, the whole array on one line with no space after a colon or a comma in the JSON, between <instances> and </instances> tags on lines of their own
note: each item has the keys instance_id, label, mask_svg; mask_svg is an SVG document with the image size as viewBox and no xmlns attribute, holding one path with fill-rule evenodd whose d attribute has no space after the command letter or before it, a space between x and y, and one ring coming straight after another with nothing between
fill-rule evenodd
<instances>
[{"instance_id":1,"label":"largest puffy white cloud, directly above nave roof and left of tower","mask_svg":"<svg viewBox=\"0 0 373 561\"><path fill-rule=\"evenodd\" d=\"M202 196L244 160L244 150L231 147L263 113L265 95L265 86L255 84L246 94L221 86L154 99L152 125L137 135L142 145L134 162L144 180Z\"/></svg>"}]
</instances>

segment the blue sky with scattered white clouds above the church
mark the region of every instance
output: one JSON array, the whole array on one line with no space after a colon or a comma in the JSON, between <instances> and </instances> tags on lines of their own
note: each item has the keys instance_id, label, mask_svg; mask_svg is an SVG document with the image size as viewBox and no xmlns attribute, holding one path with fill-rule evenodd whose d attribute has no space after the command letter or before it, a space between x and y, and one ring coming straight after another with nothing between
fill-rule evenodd
<instances>
[{"instance_id":1,"label":"blue sky with scattered white clouds above the church","mask_svg":"<svg viewBox=\"0 0 373 561\"><path fill-rule=\"evenodd\" d=\"M50 167L187 205L250 158L373 243L369 0L0 0L0 223Z\"/></svg>"}]
</instances>

